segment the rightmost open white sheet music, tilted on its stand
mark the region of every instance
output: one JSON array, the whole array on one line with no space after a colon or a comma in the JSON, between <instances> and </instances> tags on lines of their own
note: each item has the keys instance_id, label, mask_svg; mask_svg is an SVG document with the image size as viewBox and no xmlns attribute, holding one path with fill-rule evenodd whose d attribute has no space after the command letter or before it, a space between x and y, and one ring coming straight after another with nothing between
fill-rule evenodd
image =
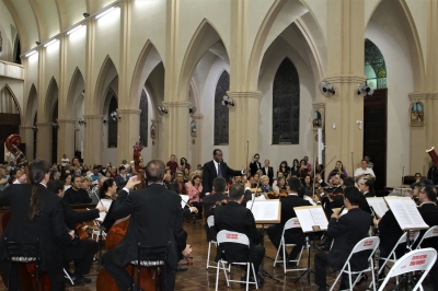
<instances>
[{"instance_id":1,"label":"rightmost open white sheet music, tilted on its stand","mask_svg":"<svg viewBox=\"0 0 438 291\"><path fill-rule=\"evenodd\" d=\"M402 230L422 230L429 225L423 220L422 214L410 197L385 197L399 225Z\"/></svg>"}]
</instances>

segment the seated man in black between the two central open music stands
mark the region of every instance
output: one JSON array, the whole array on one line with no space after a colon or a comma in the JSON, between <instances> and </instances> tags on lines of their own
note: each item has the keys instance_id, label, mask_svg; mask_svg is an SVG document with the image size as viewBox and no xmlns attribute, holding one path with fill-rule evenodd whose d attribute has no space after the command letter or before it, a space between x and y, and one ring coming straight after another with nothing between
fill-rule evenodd
<instances>
[{"instance_id":1,"label":"seated man in black between the two central open music stands","mask_svg":"<svg viewBox=\"0 0 438 291\"><path fill-rule=\"evenodd\" d=\"M304 200L298 196L300 185L301 182L296 177L292 177L288 181L286 186L288 196L280 198L281 201L280 223L273 224L267 229L267 235L269 236L270 242L277 249L281 242L283 229L285 228L286 222L289 219L297 217L293 207L311 206L311 203L308 200ZM290 255L288 256L289 260L295 259L297 255L301 252L301 247L306 243L306 235L303 234L301 228L291 229L285 232L285 240L287 244L296 244L296 246L293 246L292 252L290 252Z\"/></svg>"}]
</instances>

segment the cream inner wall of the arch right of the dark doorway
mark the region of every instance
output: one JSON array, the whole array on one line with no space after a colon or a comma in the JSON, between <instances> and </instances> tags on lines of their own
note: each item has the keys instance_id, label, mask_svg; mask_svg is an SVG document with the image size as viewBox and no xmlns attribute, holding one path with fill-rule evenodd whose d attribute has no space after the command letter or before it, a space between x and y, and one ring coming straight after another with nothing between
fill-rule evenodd
<instances>
[{"instance_id":1,"label":"cream inner wall of the arch right of the dark doorway","mask_svg":"<svg viewBox=\"0 0 438 291\"><path fill-rule=\"evenodd\" d=\"M411 173L410 164L410 98L414 91L414 78L411 57L394 38L372 20L365 37L374 43L384 57L388 85L388 150L387 185L399 185L404 174ZM379 177L377 177L379 178Z\"/></svg>"}]
</instances>

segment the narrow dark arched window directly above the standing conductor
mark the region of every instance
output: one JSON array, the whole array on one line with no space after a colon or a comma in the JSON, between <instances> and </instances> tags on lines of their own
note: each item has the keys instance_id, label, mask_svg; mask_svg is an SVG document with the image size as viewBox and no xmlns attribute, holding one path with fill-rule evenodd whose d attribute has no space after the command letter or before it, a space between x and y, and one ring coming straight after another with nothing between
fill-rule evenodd
<instances>
[{"instance_id":1,"label":"narrow dark arched window directly above the standing conductor","mask_svg":"<svg viewBox=\"0 0 438 291\"><path fill-rule=\"evenodd\" d=\"M223 96L230 90L230 74L223 71L215 92L215 146L228 144L229 110L222 105Z\"/></svg>"}]
</instances>

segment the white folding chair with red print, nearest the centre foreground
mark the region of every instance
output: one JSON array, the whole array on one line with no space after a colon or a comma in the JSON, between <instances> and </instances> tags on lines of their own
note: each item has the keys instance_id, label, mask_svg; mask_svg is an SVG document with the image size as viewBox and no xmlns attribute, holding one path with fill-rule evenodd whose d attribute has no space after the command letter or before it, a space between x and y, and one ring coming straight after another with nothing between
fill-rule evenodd
<instances>
[{"instance_id":1,"label":"white folding chair with red print, nearest the centre foreground","mask_svg":"<svg viewBox=\"0 0 438 291\"><path fill-rule=\"evenodd\" d=\"M239 233L239 232L220 231L216 237L216 241L217 241L218 245L223 244L223 243L232 243L232 244L246 245L247 248L250 248L250 240L247 238L247 236L245 234ZM222 267L219 267L219 264L221 264ZM226 264L229 264L229 263L222 258L218 260L218 266L216 269L216 291L218 291L219 269L223 269L223 273L226 275L226 280L227 280L227 287L230 287L230 282L239 282L239 283L246 283L246 291L249 290L250 284L255 284L255 288L258 289L257 277L255 273L254 264L252 264L250 261L230 263L229 264L229 265L231 265L231 264L246 265L246 281L229 279L228 275L227 275L227 270L226 270L227 269ZM253 272L254 282L250 281L250 266L251 266L251 269Z\"/></svg>"}]
</instances>

